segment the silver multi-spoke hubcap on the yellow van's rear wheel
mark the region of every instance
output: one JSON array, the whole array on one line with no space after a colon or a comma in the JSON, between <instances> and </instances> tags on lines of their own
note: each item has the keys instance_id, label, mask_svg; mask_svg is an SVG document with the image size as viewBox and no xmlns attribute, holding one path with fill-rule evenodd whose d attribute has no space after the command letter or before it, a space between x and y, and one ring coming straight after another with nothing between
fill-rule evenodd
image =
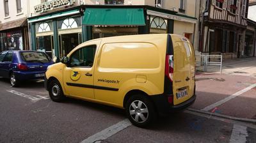
<instances>
[{"instance_id":1,"label":"silver multi-spoke hubcap on the yellow van's rear wheel","mask_svg":"<svg viewBox=\"0 0 256 143\"><path fill-rule=\"evenodd\" d=\"M132 119L137 123L143 123L148 119L148 108L145 103L140 100L136 100L131 103L129 112Z\"/></svg>"}]
</instances>

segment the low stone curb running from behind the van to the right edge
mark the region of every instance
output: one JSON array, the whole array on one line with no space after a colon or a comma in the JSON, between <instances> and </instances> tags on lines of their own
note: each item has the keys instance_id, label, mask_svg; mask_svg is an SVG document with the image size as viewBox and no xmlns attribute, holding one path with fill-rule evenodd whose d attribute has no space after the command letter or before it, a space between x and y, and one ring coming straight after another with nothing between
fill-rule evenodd
<instances>
[{"instance_id":1,"label":"low stone curb running from behind the van to the right edge","mask_svg":"<svg viewBox=\"0 0 256 143\"><path fill-rule=\"evenodd\" d=\"M256 124L256 119L233 117L233 116L227 116L227 115L223 115L223 114L219 114L219 113L215 113L215 112L212 113L212 112L196 110L196 109L187 109L187 110L189 110L191 112L198 112L198 113L207 114L207 115L211 115L211 116L223 117L223 118L226 118L226 119L232 119L232 120L236 120L236 121L242 121L242 122L246 122L246 123Z\"/></svg>"}]
</instances>

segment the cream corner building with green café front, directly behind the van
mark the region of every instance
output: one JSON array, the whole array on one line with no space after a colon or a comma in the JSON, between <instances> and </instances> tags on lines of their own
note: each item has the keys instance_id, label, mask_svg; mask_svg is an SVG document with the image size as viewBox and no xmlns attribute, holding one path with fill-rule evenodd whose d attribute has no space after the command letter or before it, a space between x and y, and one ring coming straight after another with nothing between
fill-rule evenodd
<instances>
[{"instance_id":1,"label":"cream corner building with green caf\u00e9 front, directly behind the van","mask_svg":"<svg viewBox=\"0 0 256 143\"><path fill-rule=\"evenodd\" d=\"M198 0L30 1L31 49L63 57L87 40L150 33L181 34L198 47L198 7Z\"/></svg>"}]
</instances>

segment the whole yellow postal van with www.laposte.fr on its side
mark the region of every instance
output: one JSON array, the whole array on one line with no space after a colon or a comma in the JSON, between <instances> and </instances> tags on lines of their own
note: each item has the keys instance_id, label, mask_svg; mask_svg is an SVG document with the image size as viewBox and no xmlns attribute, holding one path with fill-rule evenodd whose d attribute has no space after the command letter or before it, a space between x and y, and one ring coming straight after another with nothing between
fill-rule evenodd
<instances>
[{"instance_id":1,"label":"whole yellow postal van with www.laposte.fr on its side","mask_svg":"<svg viewBox=\"0 0 256 143\"><path fill-rule=\"evenodd\" d=\"M45 73L54 102L65 96L125 109L136 126L195 101L195 52L176 34L90 40Z\"/></svg>"}]
</instances>

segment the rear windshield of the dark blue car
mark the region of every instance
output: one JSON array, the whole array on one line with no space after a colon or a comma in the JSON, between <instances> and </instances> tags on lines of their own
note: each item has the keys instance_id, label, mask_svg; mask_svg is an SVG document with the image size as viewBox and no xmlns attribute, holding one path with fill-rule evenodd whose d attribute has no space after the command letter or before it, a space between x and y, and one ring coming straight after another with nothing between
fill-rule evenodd
<instances>
[{"instance_id":1,"label":"rear windshield of the dark blue car","mask_svg":"<svg viewBox=\"0 0 256 143\"><path fill-rule=\"evenodd\" d=\"M20 52L23 61L48 63L51 59L44 52Z\"/></svg>"}]
</instances>

